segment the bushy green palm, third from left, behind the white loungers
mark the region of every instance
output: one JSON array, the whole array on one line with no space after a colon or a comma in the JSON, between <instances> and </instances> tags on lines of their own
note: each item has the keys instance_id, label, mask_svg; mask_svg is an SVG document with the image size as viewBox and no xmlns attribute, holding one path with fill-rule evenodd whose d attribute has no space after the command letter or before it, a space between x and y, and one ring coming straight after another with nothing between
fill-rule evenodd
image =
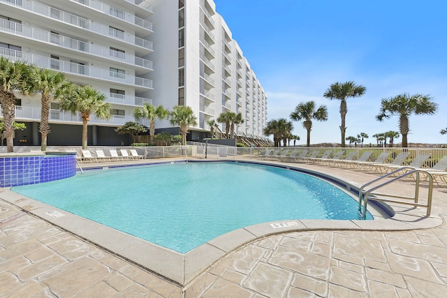
<instances>
[{"instance_id":1,"label":"bushy green palm, third from left, behind the white loungers","mask_svg":"<svg viewBox=\"0 0 447 298\"><path fill-rule=\"evenodd\" d=\"M89 87L71 84L61 95L61 110L81 113L82 149L87 149L87 125L90 115L99 119L110 119L110 104L105 102L105 95Z\"/></svg>"}]
</instances>

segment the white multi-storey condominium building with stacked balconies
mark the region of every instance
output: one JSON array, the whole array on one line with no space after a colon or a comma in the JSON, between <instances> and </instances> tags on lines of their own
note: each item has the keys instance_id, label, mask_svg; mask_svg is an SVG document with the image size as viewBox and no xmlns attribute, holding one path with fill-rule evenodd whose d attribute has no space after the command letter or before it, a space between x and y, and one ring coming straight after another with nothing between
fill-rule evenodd
<instances>
[{"instance_id":1,"label":"white multi-storey condominium building with stacked balconies","mask_svg":"<svg viewBox=\"0 0 447 298\"><path fill-rule=\"evenodd\" d=\"M226 111L242 113L237 135L263 139L267 96L212 0L0 0L0 55L105 94L112 118L91 116L90 145L128 143L115 128L144 103L191 107L198 125L189 140L209 137L207 121ZM38 145L40 96L17 98L15 119L27 129L15 144ZM80 114L57 101L50 126L49 145L80 144ZM178 132L167 120L156 128Z\"/></svg>"}]
</instances>

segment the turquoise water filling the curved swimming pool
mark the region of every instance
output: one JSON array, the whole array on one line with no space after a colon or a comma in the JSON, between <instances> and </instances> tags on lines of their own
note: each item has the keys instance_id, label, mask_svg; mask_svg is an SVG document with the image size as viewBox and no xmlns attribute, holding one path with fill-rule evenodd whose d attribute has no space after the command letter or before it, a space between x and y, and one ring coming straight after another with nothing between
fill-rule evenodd
<instances>
[{"instance_id":1,"label":"turquoise water filling the curved swimming pool","mask_svg":"<svg viewBox=\"0 0 447 298\"><path fill-rule=\"evenodd\" d=\"M358 219L356 200L321 179L245 163L125 167L13 191L180 253L256 223Z\"/></svg>"}]
</instances>

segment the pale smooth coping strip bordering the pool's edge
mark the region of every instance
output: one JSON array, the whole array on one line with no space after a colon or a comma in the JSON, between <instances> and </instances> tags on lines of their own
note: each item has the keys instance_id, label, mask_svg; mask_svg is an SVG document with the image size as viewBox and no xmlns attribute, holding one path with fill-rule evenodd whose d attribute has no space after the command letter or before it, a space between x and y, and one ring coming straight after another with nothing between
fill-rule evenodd
<instances>
[{"instance_id":1,"label":"pale smooth coping strip bordering the pool's edge","mask_svg":"<svg viewBox=\"0 0 447 298\"><path fill-rule=\"evenodd\" d=\"M221 159L209 161L233 160ZM265 163L264 161L237 160L237 162L239 161L263 165L278 165L278 163ZM206 161L202 160L202 162ZM172 161L166 161L166 163L172 163ZM154 163L146 163L145 165L152 164ZM281 165L281 167L284 167L284 165ZM315 172L314 170L302 169L295 166L286 165L286 167ZM330 176L321 172L319 174ZM332 179L337 178L332 177ZM349 184L347 181L344 181L344 183ZM356 186L351 186L356 188ZM285 223L274 221L258 223L233 230L194 248L188 253L182 254L134 237L131 234L108 228L105 225L101 225L87 218L76 216L57 207L52 207L43 202L27 198L24 195L11 191L10 188L0 189L0 194L2 200L13 204L15 207L70 232L76 237L84 239L99 248L103 248L105 251L112 253L112 255L116 255L134 265L138 265L182 288L190 285L197 276L223 258L223 256L228 255L242 246L246 246L273 234L312 230L417 230L435 228L444 223L444 219L438 215L432 215L430 217L418 216L415 220L414 216L406 216L405 214L395 214L392 218L381 218L376 221L330 220L330 227L328 227L328 220L297 219L288 220ZM53 216L49 214L53 214ZM54 214L63 215L57 217ZM281 225L279 225L280 223ZM272 225L275 224L279 226L273 228ZM145 253L142 253L142 251Z\"/></svg>"}]
</instances>

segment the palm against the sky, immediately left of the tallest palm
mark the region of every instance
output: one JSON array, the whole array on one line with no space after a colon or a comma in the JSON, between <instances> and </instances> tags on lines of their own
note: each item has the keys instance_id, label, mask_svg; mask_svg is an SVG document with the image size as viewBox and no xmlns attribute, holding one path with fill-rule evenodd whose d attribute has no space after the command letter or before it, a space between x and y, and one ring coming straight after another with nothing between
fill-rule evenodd
<instances>
[{"instance_id":1,"label":"palm against the sky, immediately left of the tallest palm","mask_svg":"<svg viewBox=\"0 0 447 298\"><path fill-rule=\"evenodd\" d=\"M328 120L328 108L325 105L320 105L315 110L315 102L313 100L307 103L299 103L295 107L295 112L291 113L291 119L294 121L304 120L302 127L307 131L307 147L310 147L310 131L312 131L312 119L316 121Z\"/></svg>"}]
</instances>

